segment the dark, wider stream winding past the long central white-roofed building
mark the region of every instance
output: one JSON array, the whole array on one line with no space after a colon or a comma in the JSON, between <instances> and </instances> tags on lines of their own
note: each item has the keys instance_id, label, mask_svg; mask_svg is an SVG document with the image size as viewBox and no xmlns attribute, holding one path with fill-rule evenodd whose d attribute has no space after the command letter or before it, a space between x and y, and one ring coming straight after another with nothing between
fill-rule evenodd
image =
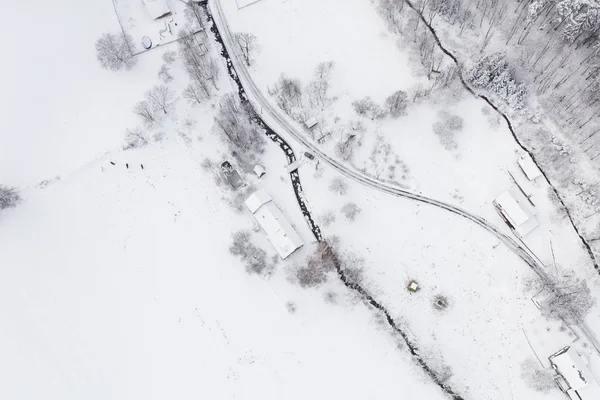
<instances>
[{"instance_id":1,"label":"dark, wider stream winding past the long central white-roofed building","mask_svg":"<svg viewBox=\"0 0 600 400\"><path fill-rule=\"evenodd\" d=\"M219 30L213 20L210 10L208 9L208 7L206 7L206 6L204 6L204 7L205 7L207 19L208 19L209 23L211 24L210 30L215 35L215 40L221 44L221 56L227 62L227 71L229 73L229 76L231 77L231 79L233 79L235 81L235 83L237 85L238 95L240 97L240 100L243 103L248 103L249 102L248 97L246 96L246 92L245 92L244 88L242 87L242 84L237 76L237 73L235 72L235 68L233 66L233 63L231 62L231 58L229 57L229 53L227 52L227 49L225 48L225 43L223 42L223 38L221 37L221 34L219 33ZM251 105L251 103L250 103L250 105ZM273 131L273 129L271 129L257 113L254 113L252 119L257 125L259 125L261 128L263 128L265 130L265 134L267 135L267 137L269 139L271 139L272 141L274 141L275 143L277 143L279 145L279 147L285 153L288 163L292 163L296 160L296 156L294 155L292 148L287 144L287 142L281 136L279 136L275 131ZM298 170L292 171L290 173L290 177L292 179L292 186L294 187L294 193L296 194L296 199L298 200L298 204L300 205L302 214L304 215L304 218L306 219L313 235L319 242L326 242L321 234L320 228L314 222L314 220L310 214L310 211L308 210L308 208L306 206ZM437 373L430 366L427 365L427 363L425 362L423 357L421 357L421 355L419 354L419 348L417 347L417 345L410 340L408 335L404 331L402 331L402 329L400 329L398 324L396 324L396 322L390 315L389 311L387 311L387 309L381 303L379 303L377 300L375 300L375 298L373 296L371 296L365 288L363 288L361 285L359 285L355 282L352 282L350 279L348 279L348 277L344 273L344 270L342 268L342 263L341 263L341 260L339 259L338 255L336 254L335 251L333 251L331 249L331 247L329 245L326 244L326 246L327 247L325 250L326 251L325 257L329 257L333 261L335 268L336 268L336 272L337 272L338 276L340 277L341 281L343 282L343 284L347 288L360 294L362 299L367 304L369 304L371 307L375 308L376 310L378 310L385 316L385 319L386 319L388 325L394 330L394 332L399 334L402 337L402 339L404 340L404 342L406 343L406 346L407 346L410 354L413 356L413 359L423 369L423 371L431 378L431 380L444 391L444 393L446 393L448 396L450 396L454 400L464 400L463 397L461 397L459 394L457 394L448 384L442 382L442 380L438 377Z\"/></svg>"}]
</instances>

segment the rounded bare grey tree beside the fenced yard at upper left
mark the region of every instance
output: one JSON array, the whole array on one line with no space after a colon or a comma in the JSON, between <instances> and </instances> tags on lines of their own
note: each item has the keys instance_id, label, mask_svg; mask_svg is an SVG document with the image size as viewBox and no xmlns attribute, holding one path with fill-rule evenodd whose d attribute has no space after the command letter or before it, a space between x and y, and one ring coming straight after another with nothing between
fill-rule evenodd
<instances>
[{"instance_id":1,"label":"rounded bare grey tree beside the fenced yard at upper left","mask_svg":"<svg viewBox=\"0 0 600 400\"><path fill-rule=\"evenodd\" d=\"M127 34L103 33L96 40L96 57L102 68L111 71L133 68L136 59L131 54L131 43Z\"/></svg>"}]
</instances>

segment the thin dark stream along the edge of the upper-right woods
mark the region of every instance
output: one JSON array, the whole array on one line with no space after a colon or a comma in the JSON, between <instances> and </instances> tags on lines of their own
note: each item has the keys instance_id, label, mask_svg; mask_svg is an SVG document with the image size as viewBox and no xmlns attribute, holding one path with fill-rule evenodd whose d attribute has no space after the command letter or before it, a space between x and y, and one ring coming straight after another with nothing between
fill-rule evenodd
<instances>
[{"instance_id":1,"label":"thin dark stream along the edge of the upper-right woods","mask_svg":"<svg viewBox=\"0 0 600 400\"><path fill-rule=\"evenodd\" d=\"M458 61L458 57L456 57L446 47L444 47L444 45L440 41L440 38L437 35L437 32L435 31L435 29L433 29L433 27L431 26L431 24L429 24L427 22L427 20L423 16L423 14L421 12L419 12L419 10L417 9L417 7L414 6L414 4L412 3L412 1L411 0L404 0L404 3L406 3L406 5L410 9L412 9L415 13L417 13L417 15L419 16L419 19L421 20L421 22L423 22L423 24L427 27L427 29L429 30L429 32L431 32L431 35L433 36L433 39L435 40L435 42L436 42L437 46L439 47L439 49L445 55L447 55L448 57L450 57L452 59L452 61L456 64L456 66L458 68L458 77L459 77L460 82L462 83L463 87L467 90L467 92L469 92L473 96L478 97L478 98L482 99L483 101L485 101L487 104L489 104L490 107L492 107L494 109L494 111L496 111L498 113L498 115L500 115L504 119L504 121L506 122L506 125L508 126L508 129L510 130L510 133L512 134L515 142L519 145L519 147L521 147L521 149L523 149L523 151L525 151L531 157L531 159L533 160L533 162L535 163L535 165L538 167L538 169L540 170L540 172L544 176L544 179L546 179L546 182L548 182L548 185L550 185L550 187L552 188L552 191L554 192L554 194L556 195L556 197L560 201L561 205L565 209L565 211L567 213L567 216L569 217L569 221L571 222L571 225L573 226L573 229L575 229L575 232L577 233L577 236L579 236L579 239L581 239L581 242L583 243L584 247L586 248L586 250L588 252L588 255L590 256L590 258L592 260L592 264L594 265L594 268L600 274L600 265L598 265L598 262L596 261L596 257L594 256L594 252L592 251L592 248L589 245L589 243L585 240L585 238L583 237L583 235L581 234L581 232L577 228L577 225L575 224L575 221L573 219L573 216L571 215L571 212L569 211L569 208L565 205L565 202L562 199L562 197L560 196L560 194L559 194L558 190L556 189L556 187L554 187L554 185L552 184L552 182L550 182L550 179L548 178L548 175L544 172L544 170L540 166L540 164L539 164L538 160L536 159L535 155L533 154L533 152L531 150L529 150L527 147L525 147L525 145L518 138L518 136L515 133L515 130L513 128L513 124L511 123L511 121L508 118L508 116L505 113L503 113L494 103L492 103L492 101L487 96L475 92L475 90L473 90L469 86L469 84L467 83L467 81L465 80L465 78L463 76L463 66Z\"/></svg>"}]
</instances>

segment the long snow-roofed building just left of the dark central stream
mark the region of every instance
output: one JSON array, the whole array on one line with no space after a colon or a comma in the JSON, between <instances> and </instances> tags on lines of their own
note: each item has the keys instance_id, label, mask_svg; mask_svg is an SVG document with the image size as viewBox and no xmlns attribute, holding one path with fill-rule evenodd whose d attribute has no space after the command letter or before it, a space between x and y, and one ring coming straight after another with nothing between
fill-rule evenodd
<instances>
[{"instance_id":1,"label":"long snow-roofed building just left of the dark central stream","mask_svg":"<svg viewBox=\"0 0 600 400\"><path fill-rule=\"evenodd\" d=\"M254 192L245 204L281 258L286 259L302 247L302 239L265 190Z\"/></svg>"}]
</instances>

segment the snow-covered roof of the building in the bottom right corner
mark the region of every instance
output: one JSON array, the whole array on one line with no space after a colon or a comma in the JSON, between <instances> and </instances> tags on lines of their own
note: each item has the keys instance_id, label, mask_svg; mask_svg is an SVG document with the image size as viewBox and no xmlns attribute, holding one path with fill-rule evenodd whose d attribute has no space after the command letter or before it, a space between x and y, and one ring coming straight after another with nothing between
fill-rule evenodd
<instances>
[{"instance_id":1,"label":"snow-covered roof of the building in the bottom right corner","mask_svg":"<svg viewBox=\"0 0 600 400\"><path fill-rule=\"evenodd\" d=\"M587 363L572 347L567 347L550 357L556 371L569 384L567 394L576 394L576 399L600 399L600 386L587 368ZM574 393L573 393L574 392ZM570 394L570 395L571 395Z\"/></svg>"}]
</instances>

